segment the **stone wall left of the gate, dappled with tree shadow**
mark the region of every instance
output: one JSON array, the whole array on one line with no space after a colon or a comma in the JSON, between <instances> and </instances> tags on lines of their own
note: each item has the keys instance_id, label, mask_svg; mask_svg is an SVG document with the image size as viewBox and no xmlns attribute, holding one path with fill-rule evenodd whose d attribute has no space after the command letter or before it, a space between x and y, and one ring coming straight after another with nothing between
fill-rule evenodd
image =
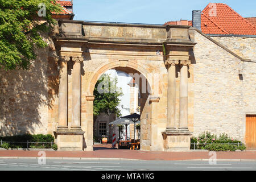
<instances>
[{"instance_id":1,"label":"stone wall left of the gate, dappled with tree shadow","mask_svg":"<svg viewBox=\"0 0 256 182\"><path fill-rule=\"evenodd\" d=\"M46 48L37 49L38 58L32 61L27 71L0 70L0 135L47 134L48 108L52 107L56 90L56 79L48 85L51 74L51 62L54 59L54 44L44 34L49 44ZM49 68L51 67L51 68Z\"/></svg>"}]
</instances>

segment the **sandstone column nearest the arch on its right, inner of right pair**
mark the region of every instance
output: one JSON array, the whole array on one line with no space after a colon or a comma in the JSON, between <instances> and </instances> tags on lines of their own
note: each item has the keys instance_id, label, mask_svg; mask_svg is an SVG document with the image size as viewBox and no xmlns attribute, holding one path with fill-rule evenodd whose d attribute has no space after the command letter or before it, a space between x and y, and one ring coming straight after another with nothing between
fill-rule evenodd
<instances>
[{"instance_id":1,"label":"sandstone column nearest the arch on its right, inner of right pair","mask_svg":"<svg viewBox=\"0 0 256 182\"><path fill-rule=\"evenodd\" d=\"M168 60L168 89L167 89L167 127L168 131L176 131L176 64L179 64L178 60Z\"/></svg>"}]
</instances>

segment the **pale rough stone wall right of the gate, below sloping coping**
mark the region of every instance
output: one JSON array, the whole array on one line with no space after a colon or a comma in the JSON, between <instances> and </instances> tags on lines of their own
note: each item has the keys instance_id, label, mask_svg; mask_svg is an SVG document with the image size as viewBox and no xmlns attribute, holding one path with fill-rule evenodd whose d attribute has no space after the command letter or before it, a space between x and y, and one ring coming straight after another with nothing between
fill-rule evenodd
<instances>
[{"instance_id":1,"label":"pale rough stone wall right of the gate, below sloping coping","mask_svg":"<svg viewBox=\"0 0 256 182\"><path fill-rule=\"evenodd\" d=\"M227 133L245 142L245 114L256 106L256 63L241 61L196 31L195 42L193 135Z\"/></svg>"}]
</instances>

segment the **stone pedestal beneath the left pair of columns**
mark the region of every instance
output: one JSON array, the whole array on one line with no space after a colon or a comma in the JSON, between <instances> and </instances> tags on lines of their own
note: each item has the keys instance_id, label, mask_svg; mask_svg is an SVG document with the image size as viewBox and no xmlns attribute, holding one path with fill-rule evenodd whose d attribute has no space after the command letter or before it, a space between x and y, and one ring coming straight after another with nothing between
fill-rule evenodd
<instances>
[{"instance_id":1,"label":"stone pedestal beneath the left pair of columns","mask_svg":"<svg viewBox=\"0 0 256 182\"><path fill-rule=\"evenodd\" d=\"M58 150L83 151L83 136L85 132L81 129L57 129L53 133Z\"/></svg>"}]
</instances>

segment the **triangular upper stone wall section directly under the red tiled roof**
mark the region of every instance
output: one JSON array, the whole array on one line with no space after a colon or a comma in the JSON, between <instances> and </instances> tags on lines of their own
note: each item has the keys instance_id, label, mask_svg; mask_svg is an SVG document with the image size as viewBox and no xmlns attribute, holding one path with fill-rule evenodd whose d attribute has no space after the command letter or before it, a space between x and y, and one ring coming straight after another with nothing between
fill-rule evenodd
<instances>
[{"instance_id":1,"label":"triangular upper stone wall section directly under the red tiled roof","mask_svg":"<svg viewBox=\"0 0 256 182\"><path fill-rule=\"evenodd\" d=\"M256 60L256 38L242 38L236 36L211 36L230 51L243 59Z\"/></svg>"}]
</instances>

